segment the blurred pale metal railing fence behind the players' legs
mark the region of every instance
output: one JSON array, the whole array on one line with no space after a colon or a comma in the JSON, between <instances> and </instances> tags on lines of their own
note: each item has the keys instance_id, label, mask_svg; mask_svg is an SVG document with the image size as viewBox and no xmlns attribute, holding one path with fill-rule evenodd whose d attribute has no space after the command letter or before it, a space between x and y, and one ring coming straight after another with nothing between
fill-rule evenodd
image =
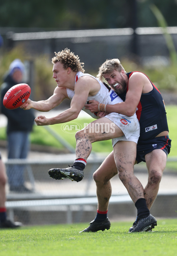
<instances>
[{"instance_id":1,"label":"blurred pale metal railing fence behind the players' legs","mask_svg":"<svg viewBox=\"0 0 177 256\"><path fill-rule=\"evenodd\" d=\"M97 209L96 185L92 176L104 157L94 154L89 157L81 182L72 182L69 179L55 180L48 175L50 168L67 167L67 164L73 163L74 158L74 154L68 154L58 155L57 159L5 160L6 168L17 164L25 166L25 185L32 189L32 193L14 193L9 191L7 185L6 207L9 217L22 221L24 225L91 221ZM177 161L177 158L168 158L168 161ZM145 168L140 166L138 170L136 167L135 171L146 173L147 178L147 171L143 171ZM109 204L109 214L112 218L119 219L125 214L127 217L136 216L134 203L117 175L112 179L112 188ZM153 206L155 214L163 213L164 217L175 217L175 198L177 193L174 192L158 195L155 207ZM164 202L166 206L170 204L171 212L167 211L168 207L166 208Z\"/></svg>"}]
</instances>

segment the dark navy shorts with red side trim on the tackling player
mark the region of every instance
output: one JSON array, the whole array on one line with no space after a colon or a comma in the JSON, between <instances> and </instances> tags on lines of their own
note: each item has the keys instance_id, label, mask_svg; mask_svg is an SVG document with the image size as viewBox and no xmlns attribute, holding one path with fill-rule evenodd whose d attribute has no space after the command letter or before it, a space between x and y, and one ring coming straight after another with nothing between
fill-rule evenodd
<instances>
[{"instance_id":1,"label":"dark navy shorts with red side trim on the tackling player","mask_svg":"<svg viewBox=\"0 0 177 256\"><path fill-rule=\"evenodd\" d=\"M171 139L169 136L155 137L151 140L138 141L137 143L137 163L145 162L145 155L152 152L155 149L163 150L166 155L170 153Z\"/></svg>"}]
</instances>

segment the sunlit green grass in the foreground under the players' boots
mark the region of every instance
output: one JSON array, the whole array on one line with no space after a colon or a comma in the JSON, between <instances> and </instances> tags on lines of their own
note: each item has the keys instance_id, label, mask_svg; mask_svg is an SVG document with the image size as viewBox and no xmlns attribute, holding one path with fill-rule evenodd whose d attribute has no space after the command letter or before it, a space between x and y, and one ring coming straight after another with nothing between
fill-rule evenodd
<instances>
[{"instance_id":1,"label":"sunlit green grass in the foreground under the players' boots","mask_svg":"<svg viewBox=\"0 0 177 256\"><path fill-rule=\"evenodd\" d=\"M111 229L79 233L86 223L1 230L1 256L168 255L177 251L177 219L159 220L155 232L127 233L132 222L112 222Z\"/></svg>"}]
</instances>

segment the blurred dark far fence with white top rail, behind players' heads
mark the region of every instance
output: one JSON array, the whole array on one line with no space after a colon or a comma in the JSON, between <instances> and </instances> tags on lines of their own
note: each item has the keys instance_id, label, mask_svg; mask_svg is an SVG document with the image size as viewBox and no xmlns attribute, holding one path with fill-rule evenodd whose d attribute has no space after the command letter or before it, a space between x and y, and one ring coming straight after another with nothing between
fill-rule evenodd
<instances>
[{"instance_id":1,"label":"blurred dark far fence with white top rail, behind players' heads","mask_svg":"<svg viewBox=\"0 0 177 256\"><path fill-rule=\"evenodd\" d=\"M171 35L176 48L177 27L167 27L166 31ZM136 56L132 52L135 35ZM92 71L97 71L98 67L109 58L132 57L136 60L140 59L141 64L150 64L150 66L153 65L154 58L161 65L168 65L169 62L164 29L160 27L26 33L9 31L4 36L6 46L24 45L31 56L48 54L52 58L55 51L68 47L84 61L84 68Z\"/></svg>"}]
</instances>

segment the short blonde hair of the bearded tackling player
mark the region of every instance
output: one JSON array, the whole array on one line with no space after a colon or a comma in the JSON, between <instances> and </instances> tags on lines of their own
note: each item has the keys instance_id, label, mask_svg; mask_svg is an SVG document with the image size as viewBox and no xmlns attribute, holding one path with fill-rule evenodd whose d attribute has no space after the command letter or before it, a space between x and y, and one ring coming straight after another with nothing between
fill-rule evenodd
<instances>
[{"instance_id":1,"label":"short blonde hair of the bearded tackling player","mask_svg":"<svg viewBox=\"0 0 177 256\"><path fill-rule=\"evenodd\" d=\"M100 67L99 67L99 72L98 72L98 79L101 80L103 82L103 76L107 73L112 72L114 69L116 69L117 71L121 71L124 70L124 67L122 66L122 64L120 63L119 59L110 59L110 60L106 60ZM126 72L125 72L126 73Z\"/></svg>"}]
</instances>

